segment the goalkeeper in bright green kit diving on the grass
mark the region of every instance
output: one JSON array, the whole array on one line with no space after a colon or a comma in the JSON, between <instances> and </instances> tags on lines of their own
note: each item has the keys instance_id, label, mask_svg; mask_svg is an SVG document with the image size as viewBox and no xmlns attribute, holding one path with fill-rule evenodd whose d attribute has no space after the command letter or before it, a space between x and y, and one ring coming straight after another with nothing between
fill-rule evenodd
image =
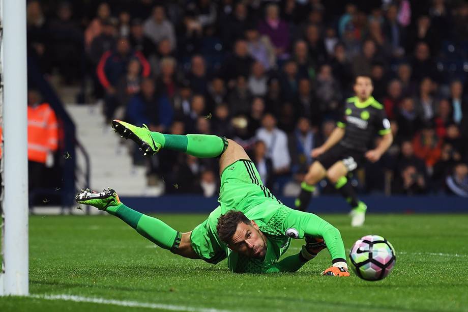
<instances>
[{"instance_id":1,"label":"goalkeeper in bright green kit diving on the grass","mask_svg":"<svg viewBox=\"0 0 468 312\"><path fill-rule=\"evenodd\" d=\"M232 272L295 272L328 248L332 266L324 275L349 276L340 232L318 216L290 209L271 194L244 149L215 135L168 135L114 120L113 128L134 140L144 155L161 149L196 157L219 157L220 205L191 232L180 233L159 219L141 214L120 200L112 189L95 193L86 189L76 196L121 218L161 248L191 259L217 264L227 258ZM280 260L291 239L305 239L298 254Z\"/></svg>"}]
</instances>

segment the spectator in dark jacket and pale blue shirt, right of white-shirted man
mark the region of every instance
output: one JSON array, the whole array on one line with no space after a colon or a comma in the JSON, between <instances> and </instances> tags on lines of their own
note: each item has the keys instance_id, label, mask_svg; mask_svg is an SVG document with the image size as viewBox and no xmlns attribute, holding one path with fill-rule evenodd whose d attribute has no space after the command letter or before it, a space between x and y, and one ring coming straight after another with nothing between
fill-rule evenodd
<instances>
[{"instance_id":1,"label":"spectator in dark jacket and pale blue shirt, right of white-shirted man","mask_svg":"<svg viewBox=\"0 0 468 312\"><path fill-rule=\"evenodd\" d=\"M288 138L288 150L291 156L291 171L306 173L312 164L312 149L317 146L317 138L312 132L307 118L299 118L296 131ZM302 179L301 179L302 180Z\"/></svg>"}]
</instances>

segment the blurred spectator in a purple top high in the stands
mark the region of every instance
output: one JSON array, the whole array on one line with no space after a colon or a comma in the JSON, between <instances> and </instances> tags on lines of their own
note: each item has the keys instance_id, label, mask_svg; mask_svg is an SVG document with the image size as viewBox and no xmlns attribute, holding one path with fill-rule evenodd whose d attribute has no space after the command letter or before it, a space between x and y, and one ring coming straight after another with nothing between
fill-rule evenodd
<instances>
[{"instance_id":1,"label":"blurred spectator in a purple top high in the stands","mask_svg":"<svg viewBox=\"0 0 468 312\"><path fill-rule=\"evenodd\" d=\"M280 19L279 8L276 4L269 4L265 10L265 19L258 25L258 31L270 38L275 47L276 57L286 59L289 49L289 27Z\"/></svg>"}]
</instances>

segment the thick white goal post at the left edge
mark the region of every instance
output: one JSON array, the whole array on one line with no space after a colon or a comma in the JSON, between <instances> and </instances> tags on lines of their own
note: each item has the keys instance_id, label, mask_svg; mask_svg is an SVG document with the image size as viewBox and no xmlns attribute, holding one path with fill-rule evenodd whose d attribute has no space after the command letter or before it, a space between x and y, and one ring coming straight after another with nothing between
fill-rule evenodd
<instances>
[{"instance_id":1,"label":"thick white goal post at the left edge","mask_svg":"<svg viewBox=\"0 0 468 312\"><path fill-rule=\"evenodd\" d=\"M4 189L0 295L26 296L29 292L26 0L2 0L1 6Z\"/></svg>"}]
</instances>

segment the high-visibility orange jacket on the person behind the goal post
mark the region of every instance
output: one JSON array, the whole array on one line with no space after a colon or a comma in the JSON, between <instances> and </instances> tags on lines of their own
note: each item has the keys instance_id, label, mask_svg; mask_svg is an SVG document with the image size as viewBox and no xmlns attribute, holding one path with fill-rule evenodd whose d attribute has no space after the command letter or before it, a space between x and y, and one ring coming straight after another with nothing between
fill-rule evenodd
<instances>
[{"instance_id":1,"label":"high-visibility orange jacket on the person behind the goal post","mask_svg":"<svg viewBox=\"0 0 468 312\"><path fill-rule=\"evenodd\" d=\"M3 139L2 129L0 137ZM47 103L27 106L27 159L45 163L47 152L58 148L58 123ZM1 154L0 154L1 155Z\"/></svg>"}]
</instances>

